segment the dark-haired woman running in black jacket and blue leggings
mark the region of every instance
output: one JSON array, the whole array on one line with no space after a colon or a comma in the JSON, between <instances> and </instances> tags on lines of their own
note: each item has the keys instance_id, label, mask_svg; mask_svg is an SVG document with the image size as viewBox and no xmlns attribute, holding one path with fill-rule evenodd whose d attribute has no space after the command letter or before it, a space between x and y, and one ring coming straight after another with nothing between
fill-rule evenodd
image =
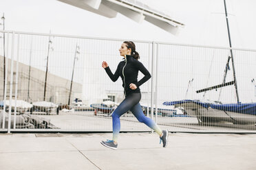
<instances>
[{"instance_id":1,"label":"dark-haired woman running in black jacket and blue leggings","mask_svg":"<svg viewBox=\"0 0 256 170\"><path fill-rule=\"evenodd\" d=\"M117 149L118 134L120 132L120 117L122 114L125 114L125 112L130 110L138 119L138 121L145 123L157 134L159 134L160 143L162 141L163 147L167 147L168 130L160 130L160 127L158 127L158 125L156 125L152 119L146 117L142 112L142 108L139 103L141 99L139 87L151 78L149 71L147 71L145 66L143 66L143 64L138 61L140 55L136 51L134 42L122 42L119 52L120 56L124 57L124 60L118 64L114 74L109 69L107 62L103 61L102 66L113 82L116 82L119 76L122 78L122 86L124 88L125 99L112 113L113 139L111 141L101 141L100 143L105 147ZM145 75L140 81L138 81L138 71Z\"/></svg>"}]
</instances>

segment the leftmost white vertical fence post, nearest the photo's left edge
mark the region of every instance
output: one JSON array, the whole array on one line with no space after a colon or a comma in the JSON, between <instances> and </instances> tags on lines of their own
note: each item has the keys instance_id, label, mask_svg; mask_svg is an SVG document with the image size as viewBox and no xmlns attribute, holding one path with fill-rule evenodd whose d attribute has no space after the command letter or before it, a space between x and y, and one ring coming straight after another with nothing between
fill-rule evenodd
<instances>
[{"instance_id":1,"label":"leftmost white vertical fence post, nearest the photo's left edge","mask_svg":"<svg viewBox=\"0 0 256 170\"><path fill-rule=\"evenodd\" d=\"M3 129L6 126L6 93L7 93L7 76L8 76L8 55L9 55L9 33L7 34L7 43L6 43L6 75L5 75L5 84L4 84L4 94L3 94Z\"/></svg>"}]
</instances>

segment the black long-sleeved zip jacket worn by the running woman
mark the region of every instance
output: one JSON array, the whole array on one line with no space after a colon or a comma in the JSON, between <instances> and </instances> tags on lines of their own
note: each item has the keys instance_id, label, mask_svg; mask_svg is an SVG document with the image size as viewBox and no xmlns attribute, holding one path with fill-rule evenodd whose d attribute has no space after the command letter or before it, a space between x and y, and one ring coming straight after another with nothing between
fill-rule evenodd
<instances>
[{"instance_id":1,"label":"black long-sleeved zip jacket worn by the running woman","mask_svg":"<svg viewBox=\"0 0 256 170\"><path fill-rule=\"evenodd\" d=\"M147 82L147 80L149 80L151 77L149 71L147 71L145 66L143 66L141 62L129 55L126 55L126 58L124 58L123 61L119 62L114 75L109 69L109 66L105 68L105 71L113 82L116 82L119 76L122 78L122 86L125 90L125 96L129 95L130 93L140 93L139 86ZM138 71L145 75L139 82ZM129 88L129 85L131 83L136 84L137 88L135 90Z\"/></svg>"}]
</instances>

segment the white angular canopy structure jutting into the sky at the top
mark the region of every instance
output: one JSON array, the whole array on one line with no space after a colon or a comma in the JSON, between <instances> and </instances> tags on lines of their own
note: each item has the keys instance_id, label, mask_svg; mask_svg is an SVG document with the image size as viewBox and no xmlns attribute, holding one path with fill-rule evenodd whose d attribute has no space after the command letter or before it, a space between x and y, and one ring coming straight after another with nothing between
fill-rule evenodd
<instances>
[{"instance_id":1,"label":"white angular canopy structure jutting into the sky at the top","mask_svg":"<svg viewBox=\"0 0 256 170\"><path fill-rule=\"evenodd\" d=\"M106 16L108 18L116 17L119 12L129 19L138 23L143 20L156 25L165 31L176 34L179 27L184 24L174 21L167 14L158 12L149 8L149 6L135 0L58 0L78 8Z\"/></svg>"}]
</instances>

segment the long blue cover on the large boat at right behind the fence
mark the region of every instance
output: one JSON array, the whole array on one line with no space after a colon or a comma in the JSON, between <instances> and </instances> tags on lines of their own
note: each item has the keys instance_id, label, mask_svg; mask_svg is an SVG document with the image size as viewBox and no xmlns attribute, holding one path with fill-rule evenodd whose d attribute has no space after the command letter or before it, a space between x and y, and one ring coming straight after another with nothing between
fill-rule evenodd
<instances>
[{"instance_id":1,"label":"long blue cover on the large boat at right behind the fence","mask_svg":"<svg viewBox=\"0 0 256 170\"><path fill-rule=\"evenodd\" d=\"M185 103L193 103L198 104L199 106L202 106L204 108L213 108L217 110L223 110L228 112L239 112L244 114L254 114L256 115L256 103L249 103L249 104L211 104L211 103L205 103L199 100L180 100L180 101L165 101L163 105L171 106L175 104L185 104Z\"/></svg>"}]
</instances>

